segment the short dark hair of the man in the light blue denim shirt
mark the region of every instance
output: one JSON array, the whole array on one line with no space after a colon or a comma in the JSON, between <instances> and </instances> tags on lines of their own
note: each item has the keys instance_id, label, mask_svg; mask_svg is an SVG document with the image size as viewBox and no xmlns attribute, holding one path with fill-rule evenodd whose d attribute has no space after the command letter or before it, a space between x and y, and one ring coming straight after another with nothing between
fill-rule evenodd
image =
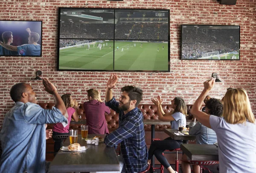
<instances>
[{"instance_id":1,"label":"short dark hair of the man in the light blue denim shirt","mask_svg":"<svg viewBox=\"0 0 256 173\"><path fill-rule=\"evenodd\" d=\"M10 90L11 98L14 102L20 101L22 93L26 92L26 83L18 83L12 86Z\"/></svg>"}]
</instances>

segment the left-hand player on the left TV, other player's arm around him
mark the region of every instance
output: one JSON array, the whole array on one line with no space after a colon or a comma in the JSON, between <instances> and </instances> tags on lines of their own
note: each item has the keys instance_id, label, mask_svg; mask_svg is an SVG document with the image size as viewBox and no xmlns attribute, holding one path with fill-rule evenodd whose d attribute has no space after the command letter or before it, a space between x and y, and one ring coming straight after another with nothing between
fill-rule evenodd
<instances>
[{"instance_id":1,"label":"left-hand player on the left TV, other player's arm around him","mask_svg":"<svg viewBox=\"0 0 256 173\"><path fill-rule=\"evenodd\" d=\"M2 39L3 39L3 43L6 45L12 44L12 41L13 41L12 32L10 31L3 32ZM4 48L3 46L0 46L0 55L20 55L20 54L17 51L11 51Z\"/></svg>"}]
</instances>

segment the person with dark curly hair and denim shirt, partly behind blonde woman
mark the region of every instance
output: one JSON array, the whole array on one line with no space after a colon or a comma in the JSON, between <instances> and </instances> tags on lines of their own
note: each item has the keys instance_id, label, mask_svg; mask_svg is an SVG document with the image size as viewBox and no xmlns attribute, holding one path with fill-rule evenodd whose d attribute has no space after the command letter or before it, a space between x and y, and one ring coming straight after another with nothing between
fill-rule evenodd
<instances>
[{"instance_id":1,"label":"person with dark curly hair and denim shirt, partly behind blonde woman","mask_svg":"<svg viewBox=\"0 0 256 173\"><path fill-rule=\"evenodd\" d=\"M215 115L218 117L222 115L223 104L219 99L210 98L205 102L205 107L205 113L209 115ZM217 141L215 131L204 126L200 122L195 123L195 119L189 124L189 135L196 135L197 144L213 144ZM182 159L189 160L185 154L182 156ZM189 163L183 161L181 167L184 173L191 172ZM200 173L200 167L198 165L193 165L193 172Z\"/></svg>"}]
</instances>

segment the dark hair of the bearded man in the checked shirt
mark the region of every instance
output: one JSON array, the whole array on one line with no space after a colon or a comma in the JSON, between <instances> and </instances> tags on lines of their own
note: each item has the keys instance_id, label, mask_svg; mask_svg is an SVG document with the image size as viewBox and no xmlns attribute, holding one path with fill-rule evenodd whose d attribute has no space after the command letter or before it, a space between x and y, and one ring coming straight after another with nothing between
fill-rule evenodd
<instances>
[{"instance_id":1,"label":"dark hair of the bearded man in the checked shirt","mask_svg":"<svg viewBox=\"0 0 256 173\"><path fill-rule=\"evenodd\" d=\"M140 101L142 100L142 90L140 88L137 88L135 86L124 86L122 87L121 89L122 92L127 92L128 93L128 96L130 98L130 101L131 100L136 100L136 104L135 104L135 107L137 107L139 104L140 104Z\"/></svg>"}]
</instances>

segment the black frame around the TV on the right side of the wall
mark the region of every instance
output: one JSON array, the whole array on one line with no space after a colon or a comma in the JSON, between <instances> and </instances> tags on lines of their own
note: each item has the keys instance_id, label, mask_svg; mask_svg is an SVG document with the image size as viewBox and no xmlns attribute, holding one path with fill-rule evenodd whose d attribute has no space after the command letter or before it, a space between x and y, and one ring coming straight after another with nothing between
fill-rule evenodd
<instances>
[{"instance_id":1,"label":"black frame around the TV on the right side of the wall","mask_svg":"<svg viewBox=\"0 0 256 173\"><path fill-rule=\"evenodd\" d=\"M212 27L214 27L214 26L237 26L237 27L239 27L239 59L207 59L207 58L202 58L202 59L198 59L198 58L183 58L183 55L182 55L182 40L183 40L183 26L194 26L194 27L196 27L196 26L212 26ZM198 25L198 24L182 24L181 26L180 26L180 30L181 30L181 32L180 32L180 59L181 60L199 60L199 61L204 61L204 60L211 60L211 61L240 61L240 29L241 29L241 27L239 26L239 25Z\"/></svg>"}]
</instances>

